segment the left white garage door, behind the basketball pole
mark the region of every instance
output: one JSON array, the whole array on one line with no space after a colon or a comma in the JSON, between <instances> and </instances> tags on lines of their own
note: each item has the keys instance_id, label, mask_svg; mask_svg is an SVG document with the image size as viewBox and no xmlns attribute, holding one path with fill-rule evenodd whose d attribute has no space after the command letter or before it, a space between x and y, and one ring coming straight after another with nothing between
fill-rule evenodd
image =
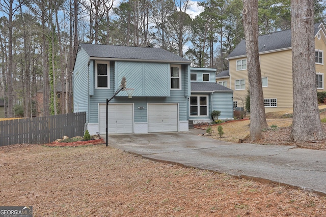
<instances>
[{"instance_id":1,"label":"left white garage door, behind the basketball pole","mask_svg":"<svg viewBox=\"0 0 326 217\"><path fill-rule=\"evenodd\" d=\"M133 133L133 104L108 104L108 133ZM99 105L100 133L105 134L106 105Z\"/></svg>"}]
</instances>

